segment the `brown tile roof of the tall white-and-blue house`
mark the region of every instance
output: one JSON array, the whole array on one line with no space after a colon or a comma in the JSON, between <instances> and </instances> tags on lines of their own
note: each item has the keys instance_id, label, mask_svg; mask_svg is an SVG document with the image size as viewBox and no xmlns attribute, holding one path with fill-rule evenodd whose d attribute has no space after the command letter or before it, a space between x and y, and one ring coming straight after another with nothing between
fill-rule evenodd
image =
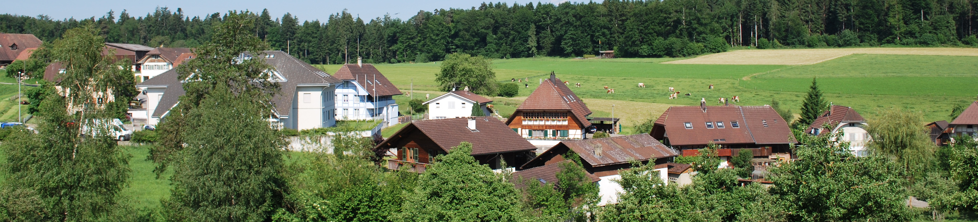
<instances>
[{"instance_id":1,"label":"brown tile roof of the tall white-and-blue house","mask_svg":"<svg viewBox=\"0 0 978 222\"><path fill-rule=\"evenodd\" d=\"M364 64L362 67L355 64L343 65L343 67L339 67L339 70L336 70L336 73L333 73L333 76L342 80L356 80L357 84L364 87L371 96L402 94L401 90L390 83L387 77L384 77L374 65ZM377 95L374 95L375 92Z\"/></svg>"}]
</instances>

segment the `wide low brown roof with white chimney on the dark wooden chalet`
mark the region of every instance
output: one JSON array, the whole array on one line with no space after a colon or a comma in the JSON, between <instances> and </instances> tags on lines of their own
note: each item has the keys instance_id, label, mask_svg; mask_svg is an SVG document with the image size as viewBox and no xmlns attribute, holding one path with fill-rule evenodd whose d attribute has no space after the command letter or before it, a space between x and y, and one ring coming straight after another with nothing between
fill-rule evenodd
<instances>
[{"instance_id":1,"label":"wide low brown roof with white chimney on the dark wooden chalet","mask_svg":"<svg viewBox=\"0 0 978 222\"><path fill-rule=\"evenodd\" d=\"M513 132L510 126L489 116L474 117L475 130L468 129L468 118L415 120L398 130L377 147L395 143L415 130L444 151L451 151L462 142L472 144L472 155L501 154L537 150L533 144Z\"/></svg>"}]
</instances>

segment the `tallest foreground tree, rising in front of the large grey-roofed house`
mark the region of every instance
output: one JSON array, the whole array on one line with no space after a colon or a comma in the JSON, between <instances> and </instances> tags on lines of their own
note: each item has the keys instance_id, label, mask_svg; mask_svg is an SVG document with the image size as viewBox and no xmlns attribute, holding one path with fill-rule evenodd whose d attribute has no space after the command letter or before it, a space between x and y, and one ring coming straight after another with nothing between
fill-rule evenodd
<instances>
[{"instance_id":1,"label":"tallest foreground tree, rising in front of the large grey-roofed house","mask_svg":"<svg viewBox=\"0 0 978 222\"><path fill-rule=\"evenodd\" d=\"M261 221L282 206L285 138L269 127L268 46L254 35L249 12L229 12L214 38L195 49L199 58L178 67L185 96L160 124L154 150L173 164L164 214L174 221ZM243 55L250 55L249 57ZM174 144L178 143L178 144ZM165 166L165 165L163 165Z\"/></svg>"}]
</instances>

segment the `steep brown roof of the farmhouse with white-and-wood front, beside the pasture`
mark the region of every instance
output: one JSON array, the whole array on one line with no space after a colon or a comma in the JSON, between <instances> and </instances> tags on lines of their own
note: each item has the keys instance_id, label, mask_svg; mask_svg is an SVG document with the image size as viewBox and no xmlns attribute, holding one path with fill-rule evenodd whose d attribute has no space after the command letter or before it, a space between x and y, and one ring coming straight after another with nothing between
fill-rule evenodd
<instances>
[{"instance_id":1,"label":"steep brown roof of the farmhouse with white-and-wood front, beside the pasture","mask_svg":"<svg viewBox=\"0 0 978 222\"><path fill-rule=\"evenodd\" d=\"M550 78L544 79L516 111L570 111L584 127L591 126L591 122L587 120L591 110L554 73L551 73ZM515 116L511 115L506 122L510 123Z\"/></svg>"}]
</instances>

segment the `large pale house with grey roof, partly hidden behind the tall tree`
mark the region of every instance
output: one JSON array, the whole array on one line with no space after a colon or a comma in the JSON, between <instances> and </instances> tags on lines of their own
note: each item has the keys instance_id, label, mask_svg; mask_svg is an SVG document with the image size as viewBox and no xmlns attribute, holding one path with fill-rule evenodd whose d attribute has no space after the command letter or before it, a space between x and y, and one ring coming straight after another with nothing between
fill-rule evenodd
<instances>
[{"instance_id":1,"label":"large pale house with grey roof, partly hidden behind the tall tree","mask_svg":"<svg viewBox=\"0 0 978 222\"><path fill-rule=\"evenodd\" d=\"M281 91L272 98L275 106L269 121L276 127L312 129L334 126L333 93L342 82L330 74L312 67L282 51L265 51L265 63L274 69L269 81L277 81ZM244 55L243 59L250 59ZM177 106L185 94L183 81L176 69L169 69L145 82L139 83L147 95L146 110L129 111L133 116L145 116L148 124L156 124ZM134 113L140 112L143 113Z\"/></svg>"}]
</instances>

